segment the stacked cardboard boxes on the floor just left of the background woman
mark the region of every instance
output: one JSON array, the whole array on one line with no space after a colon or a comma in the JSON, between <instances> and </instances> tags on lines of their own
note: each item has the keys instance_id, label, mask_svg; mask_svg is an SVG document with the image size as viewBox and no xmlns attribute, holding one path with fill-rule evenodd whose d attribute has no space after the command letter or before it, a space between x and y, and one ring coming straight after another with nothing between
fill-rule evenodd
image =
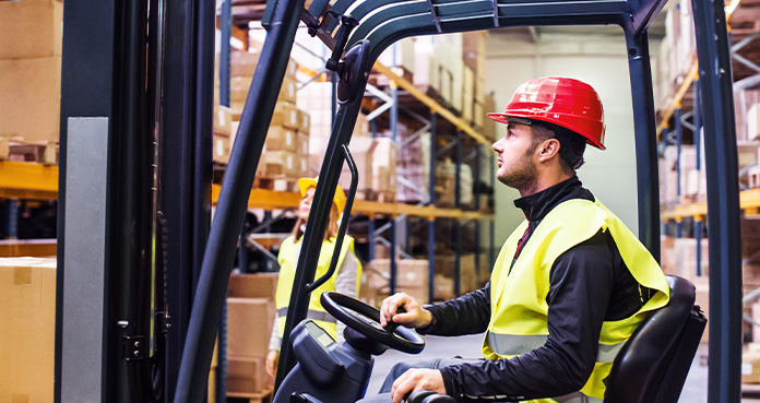
<instances>
[{"instance_id":1,"label":"stacked cardboard boxes on the floor just left of the background woman","mask_svg":"<svg viewBox=\"0 0 760 403\"><path fill-rule=\"evenodd\" d=\"M274 325L276 274L234 274L227 298L227 394L245 396L272 388L265 360Z\"/></svg>"}]
</instances>

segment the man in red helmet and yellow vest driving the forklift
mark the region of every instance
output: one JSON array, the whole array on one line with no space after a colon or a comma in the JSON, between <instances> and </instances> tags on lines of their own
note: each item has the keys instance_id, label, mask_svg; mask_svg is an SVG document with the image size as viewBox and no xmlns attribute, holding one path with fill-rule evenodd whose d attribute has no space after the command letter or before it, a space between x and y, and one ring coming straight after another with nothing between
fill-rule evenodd
<instances>
[{"instance_id":1,"label":"man in red helmet and yellow vest driving the forklift","mask_svg":"<svg viewBox=\"0 0 760 403\"><path fill-rule=\"evenodd\" d=\"M488 117L507 125L492 146L496 176L520 192L514 205L526 220L485 287L435 306L399 293L380 309L383 327L486 332L484 359L396 364L380 394L363 403L400 403L417 390L460 402L602 402L617 353L668 301L656 260L575 175L586 144L605 150L596 91L568 78L534 79Z\"/></svg>"}]
</instances>

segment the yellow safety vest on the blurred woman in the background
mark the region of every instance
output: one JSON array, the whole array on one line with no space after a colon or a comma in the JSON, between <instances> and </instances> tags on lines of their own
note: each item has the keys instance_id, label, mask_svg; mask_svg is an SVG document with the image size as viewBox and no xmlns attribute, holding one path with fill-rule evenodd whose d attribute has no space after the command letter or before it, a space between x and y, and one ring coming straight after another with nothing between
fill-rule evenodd
<instances>
[{"instance_id":1,"label":"yellow safety vest on the blurred woman in the background","mask_svg":"<svg viewBox=\"0 0 760 403\"><path fill-rule=\"evenodd\" d=\"M290 304L290 292L293 291L293 282L296 277L296 264L298 263L297 257L299 254L302 239L304 238L301 237L301 239L295 241L295 238L289 236L285 238L283 244L280 246L280 254L277 256L277 262L280 263L280 278L277 280L277 292L274 297L274 304L277 308L277 327L280 329L280 337L282 337L285 332L287 306ZM335 250L334 238L324 239L322 241L322 249L319 252L319 263L317 264L317 274L314 274L314 280L320 278L330 269L330 261L332 260L333 250ZM324 310L324 308L322 308L322 304L320 304L319 298L325 291L335 291L335 278L337 278L337 274L343 266L343 262L345 261L348 251L354 253L354 238L346 235L343 238L341 256L337 259L335 273L326 282L324 282L324 284L320 285L311 293L311 297L309 299L309 311L306 316L330 333L333 339L337 337L337 323L335 318L333 318ZM360 282L361 264L357 260L357 292L359 289Z\"/></svg>"}]
</instances>

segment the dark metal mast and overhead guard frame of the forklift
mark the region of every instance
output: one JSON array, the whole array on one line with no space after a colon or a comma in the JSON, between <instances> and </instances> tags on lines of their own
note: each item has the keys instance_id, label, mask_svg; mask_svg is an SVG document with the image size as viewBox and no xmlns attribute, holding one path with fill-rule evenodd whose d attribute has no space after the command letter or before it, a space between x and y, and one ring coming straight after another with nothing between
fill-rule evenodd
<instances>
[{"instance_id":1,"label":"dark metal mast and overhead guard frame of the forklift","mask_svg":"<svg viewBox=\"0 0 760 403\"><path fill-rule=\"evenodd\" d=\"M633 99L639 238L658 257L648 28L665 3L314 0L306 9L305 0L269 0L266 39L210 226L216 4L67 0L56 402L204 401L248 197L301 22L332 50L326 68L339 78L339 108L297 265L277 384L296 366L290 337L304 334L309 292L318 283L319 234L341 169L353 164L347 145L369 72L402 38L510 26L620 26ZM739 402L741 251L729 43L723 2L692 4L710 206L708 401Z\"/></svg>"}]
</instances>

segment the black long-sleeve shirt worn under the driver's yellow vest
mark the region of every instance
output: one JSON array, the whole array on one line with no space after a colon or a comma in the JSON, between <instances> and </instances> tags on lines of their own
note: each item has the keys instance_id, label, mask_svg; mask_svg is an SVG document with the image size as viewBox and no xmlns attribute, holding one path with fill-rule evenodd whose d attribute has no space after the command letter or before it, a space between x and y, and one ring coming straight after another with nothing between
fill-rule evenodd
<instances>
[{"instance_id":1,"label":"black long-sleeve shirt worn under the driver's yellow vest","mask_svg":"<svg viewBox=\"0 0 760 403\"><path fill-rule=\"evenodd\" d=\"M526 244L541 221L570 199L594 200L573 177L542 192L514 201L529 220ZM638 311L649 291L636 282L608 232L562 253L549 274L546 344L510 359L482 360L441 369L447 394L461 402L525 400L559 396L580 390L589 379L602 323ZM490 283L450 301L428 307L432 322L421 333L463 335L487 330Z\"/></svg>"}]
</instances>

